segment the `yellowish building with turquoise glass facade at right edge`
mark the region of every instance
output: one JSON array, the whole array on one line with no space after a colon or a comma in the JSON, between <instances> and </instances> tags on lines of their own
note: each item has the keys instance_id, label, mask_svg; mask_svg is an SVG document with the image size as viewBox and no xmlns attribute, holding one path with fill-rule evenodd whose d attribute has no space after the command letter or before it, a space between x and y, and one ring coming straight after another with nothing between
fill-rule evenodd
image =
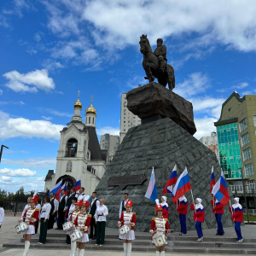
<instances>
[{"instance_id":1,"label":"yellowish building with turquoise glass facade at right edge","mask_svg":"<svg viewBox=\"0 0 256 256\"><path fill-rule=\"evenodd\" d=\"M234 91L223 103L220 118L214 125L217 127L220 166L231 190L235 195L243 193L242 172L245 192L249 195L248 207L255 208L256 95L241 97Z\"/></svg>"}]
</instances>

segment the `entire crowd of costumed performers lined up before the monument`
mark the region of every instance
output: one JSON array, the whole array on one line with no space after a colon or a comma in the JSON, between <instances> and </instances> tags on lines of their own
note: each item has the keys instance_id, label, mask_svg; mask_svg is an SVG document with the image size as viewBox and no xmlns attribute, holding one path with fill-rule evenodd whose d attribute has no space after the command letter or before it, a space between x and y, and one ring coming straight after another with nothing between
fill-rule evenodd
<instances>
[{"instance_id":1,"label":"entire crowd of costumed performers lined up before the monument","mask_svg":"<svg viewBox=\"0 0 256 256\"><path fill-rule=\"evenodd\" d=\"M67 230L66 240L67 244L71 244L70 255L83 256L84 247L86 242L89 241L89 238L96 240L96 245L104 245L108 207L105 206L105 201L103 198L97 200L96 192L93 192L91 195L90 202L90 197L88 195L84 195L84 188L80 189L79 195L77 195L74 190L71 192L72 193L68 197L66 196L67 198L64 197L64 194L61 196L59 206L57 207L58 212L67 211L68 216L66 219L67 222L65 222L64 214L63 220L59 220L59 228L57 229L63 229L62 225L65 226L67 223L71 224L70 229ZM119 220L117 225L119 226L119 239L123 240L125 256L130 256L131 244L132 241L135 240L136 213L132 212L132 201L129 200L128 194L125 193L124 196L125 199L121 202L119 207ZM64 207L61 204L62 200L65 201ZM166 235L171 232L168 221L169 207L166 200L166 196L162 196L160 201L156 200L156 217L152 218L149 230L149 233L153 238L152 242L156 249L156 256L165 255ZM46 242L47 230L53 227L51 217L53 217L56 212L54 195L46 196L44 198L44 204L42 207L39 202L38 195L34 195L33 198L28 201L28 204L22 212L22 217L19 220L19 223L26 223L28 226L25 231L21 232L25 240L25 250L23 256L26 256L28 253L32 235L37 233L38 222L40 223L39 244L44 244ZM198 235L197 241L203 241L201 224L205 220L205 210L202 205L201 198L196 198L196 200L191 203L190 210L194 212L195 230L197 231ZM181 232L179 234L180 236L187 236L187 212L188 200L183 195L177 200L177 213L179 215L181 226ZM216 235L223 236L224 228L221 221L222 215L224 214L223 205L217 200L212 200L212 212L215 214L216 222L218 224ZM233 205L230 204L230 212L231 219L235 222L237 242L242 242L243 238L241 236L240 225L243 218L243 210L239 204L239 198L234 199ZM88 236L89 228L90 236ZM95 232L93 232L93 230L95 230ZM76 236L76 239L73 240L73 236Z\"/></svg>"}]
</instances>

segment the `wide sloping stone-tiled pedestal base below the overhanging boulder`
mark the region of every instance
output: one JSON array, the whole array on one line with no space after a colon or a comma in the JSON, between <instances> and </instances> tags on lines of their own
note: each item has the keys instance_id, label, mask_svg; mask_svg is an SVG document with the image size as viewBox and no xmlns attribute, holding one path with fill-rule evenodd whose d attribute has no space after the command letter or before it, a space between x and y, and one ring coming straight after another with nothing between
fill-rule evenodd
<instances>
[{"instance_id":1,"label":"wide sloping stone-tiled pedestal base below the overhanging boulder","mask_svg":"<svg viewBox=\"0 0 256 256\"><path fill-rule=\"evenodd\" d=\"M132 211L137 215L136 230L148 231L151 218L154 217L155 204L144 195L148 188L152 166L154 166L156 187L160 198L175 164L177 164L177 176L187 166L194 197L202 199L202 205L206 210L205 223L202 224L203 229L216 227L211 207L212 195L210 194L212 166L214 166L216 180L220 176L220 166L216 155L188 131L168 118L131 128L120 144L113 161L109 163L107 171L96 188L97 197L103 197L106 200L105 205L109 212L107 226L117 228L119 205L127 192L130 200L133 201ZM124 176L126 172L130 172L131 175L145 174L147 179L143 184L128 185L123 190L119 187L108 187L110 177ZM172 203L170 194L166 195L171 229L179 231L180 224L176 205ZM192 201L190 192L186 196L190 206ZM228 207L224 208L222 219L224 227L232 225ZM195 230L193 211L191 210L188 210L187 227L188 230Z\"/></svg>"}]
</instances>

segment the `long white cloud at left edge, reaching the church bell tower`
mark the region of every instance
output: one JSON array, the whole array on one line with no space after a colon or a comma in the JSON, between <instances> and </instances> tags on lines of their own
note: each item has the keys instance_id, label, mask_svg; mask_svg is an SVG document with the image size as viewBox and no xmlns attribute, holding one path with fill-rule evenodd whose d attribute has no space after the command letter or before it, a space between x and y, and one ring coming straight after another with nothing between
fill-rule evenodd
<instances>
[{"instance_id":1,"label":"long white cloud at left edge, reaching the church bell tower","mask_svg":"<svg viewBox=\"0 0 256 256\"><path fill-rule=\"evenodd\" d=\"M9 113L0 111L0 138L38 137L44 139L60 139L60 131L64 125L55 125L46 120L30 120L10 118Z\"/></svg>"}]
</instances>

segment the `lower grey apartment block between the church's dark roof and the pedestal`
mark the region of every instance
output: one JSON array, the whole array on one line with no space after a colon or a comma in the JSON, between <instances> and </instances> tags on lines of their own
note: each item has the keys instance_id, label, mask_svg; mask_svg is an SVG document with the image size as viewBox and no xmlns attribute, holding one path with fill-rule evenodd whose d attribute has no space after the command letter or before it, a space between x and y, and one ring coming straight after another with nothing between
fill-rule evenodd
<instances>
[{"instance_id":1,"label":"lower grey apartment block between the church's dark roof and the pedestal","mask_svg":"<svg viewBox=\"0 0 256 256\"><path fill-rule=\"evenodd\" d=\"M119 148L119 136L110 135L109 133L105 133L101 136L101 149L108 150L107 159L108 162L112 159L113 155Z\"/></svg>"}]
</instances>

